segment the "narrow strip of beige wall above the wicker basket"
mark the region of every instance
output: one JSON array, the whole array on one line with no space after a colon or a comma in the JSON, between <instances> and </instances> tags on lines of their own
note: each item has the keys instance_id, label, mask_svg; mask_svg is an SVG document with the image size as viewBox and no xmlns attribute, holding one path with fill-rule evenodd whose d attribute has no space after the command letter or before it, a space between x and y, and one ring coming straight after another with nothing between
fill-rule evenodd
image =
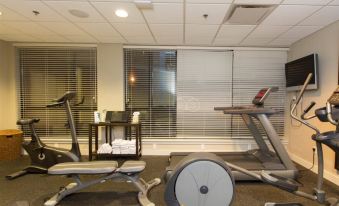
<instances>
[{"instance_id":1,"label":"narrow strip of beige wall above the wicker basket","mask_svg":"<svg viewBox=\"0 0 339 206\"><path fill-rule=\"evenodd\" d=\"M14 55L12 44L0 40L0 130L16 128L17 101Z\"/></svg>"}]
</instances>

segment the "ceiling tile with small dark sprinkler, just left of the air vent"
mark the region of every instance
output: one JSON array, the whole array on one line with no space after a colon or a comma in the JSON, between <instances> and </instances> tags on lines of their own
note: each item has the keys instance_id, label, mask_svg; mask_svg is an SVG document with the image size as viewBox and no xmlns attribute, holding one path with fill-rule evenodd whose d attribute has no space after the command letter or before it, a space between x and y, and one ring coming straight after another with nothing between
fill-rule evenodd
<instances>
[{"instance_id":1,"label":"ceiling tile with small dark sprinkler, just left of the air vent","mask_svg":"<svg viewBox=\"0 0 339 206\"><path fill-rule=\"evenodd\" d=\"M185 20L188 24L221 24L229 7L230 4L187 4Z\"/></svg>"}]
</instances>

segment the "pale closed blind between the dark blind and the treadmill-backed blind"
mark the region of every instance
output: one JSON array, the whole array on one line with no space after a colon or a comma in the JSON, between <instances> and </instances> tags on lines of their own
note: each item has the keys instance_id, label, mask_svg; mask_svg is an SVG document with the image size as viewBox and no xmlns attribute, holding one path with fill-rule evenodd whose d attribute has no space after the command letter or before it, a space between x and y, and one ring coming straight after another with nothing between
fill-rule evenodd
<instances>
[{"instance_id":1,"label":"pale closed blind between the dark blind and the treadmill-backed blind","mask_svg":"<svg viewBox=\"0 0 339 206\"><path fill-rule=\"evenodd\" d=\"M232 104L232 52L178 50L177 137L230 136L231 119L216 106Z\"/></svg>"}]
</instances>

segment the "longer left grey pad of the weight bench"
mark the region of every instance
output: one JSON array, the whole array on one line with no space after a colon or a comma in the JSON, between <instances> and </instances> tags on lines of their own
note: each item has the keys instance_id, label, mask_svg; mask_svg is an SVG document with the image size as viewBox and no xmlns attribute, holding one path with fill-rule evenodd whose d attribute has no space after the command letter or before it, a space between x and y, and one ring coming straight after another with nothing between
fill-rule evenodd
<instances>
[{"instance_id":1,"label":"longer left grey pad of the weight bench","mask_svg":"<svg viewBox=\"0 0 339 206\"><path fill-rule=\"evenodd\" d=\"M118 168L116 161L93 161L93 162L65 162L56 164L48 169L48 174L107 174Z\"/></svg>"}]
</instances>

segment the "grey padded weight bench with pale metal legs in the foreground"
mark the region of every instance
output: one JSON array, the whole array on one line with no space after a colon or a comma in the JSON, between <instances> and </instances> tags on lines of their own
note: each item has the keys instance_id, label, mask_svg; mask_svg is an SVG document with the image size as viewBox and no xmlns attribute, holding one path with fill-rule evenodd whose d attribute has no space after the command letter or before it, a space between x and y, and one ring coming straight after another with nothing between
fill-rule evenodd
<instances>
[{"instance_id":1,"label":"grey padded weight bench with pale metal legs in the foreground","mask_svg":"<svg viewBox=\"0 0 339 206\"><path fill-rule=\"evenodd\" d=\"M119 180L131 182L139 190L138 200L142 206L154 206L147 193L154 186L160 184L160 179L155 178L145 182L139 174L145 169L144 161L126 161L118 167L116 161L95 161L95 162L65 162L56 164L48 169L51 175L67 175L75 182L60 189L52 198L45 202L45 206L57 205L64 197L73 194L81 189L94 184L105 182L106 180ZM98 179L82 182L79 175L104 175Z\"/></svg>"}]
</instances>

